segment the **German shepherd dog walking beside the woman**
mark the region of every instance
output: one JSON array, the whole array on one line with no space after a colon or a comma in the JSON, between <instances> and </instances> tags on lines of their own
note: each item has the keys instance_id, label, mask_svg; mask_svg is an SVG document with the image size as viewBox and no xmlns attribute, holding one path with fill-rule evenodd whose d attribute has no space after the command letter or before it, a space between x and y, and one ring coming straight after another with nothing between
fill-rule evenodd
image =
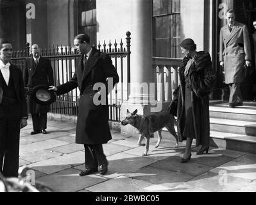
<instances>
[{"instance_id":1,"label":"German shepherd dog walking beside the woman","mask_svg":"<svg viewBox=\"0 0 256 205\"><path fill-rule=\"evenodd\" d=\"M153 137L153 133L156 131L158 132L158 140L155 148L159 146L162 140L162 129L164 127L166 127L169 133L175 137L175 147L178 147L178 136L175 132L175 117L173 117L173 115L168 112L160 112L155 115L142 116L137 115L137 110L133 111L133 113L130 113L130 111L127 109L127 115L125 119L122 120L121 124L123 126L130 124L138 129L140 133L138 145L145 146L145 144L142 143L142 140L143 138L146 139L145 152L142 154L142 156L148 155L149 138Z\"/></svg>"}]
</instances>

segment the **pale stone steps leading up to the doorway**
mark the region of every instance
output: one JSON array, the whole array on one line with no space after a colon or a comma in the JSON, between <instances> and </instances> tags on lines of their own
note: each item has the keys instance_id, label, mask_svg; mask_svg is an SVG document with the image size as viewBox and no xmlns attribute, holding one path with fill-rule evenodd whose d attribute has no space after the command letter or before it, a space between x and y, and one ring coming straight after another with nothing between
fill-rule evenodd
<instances>
[{"instance_id":1,"label":"pale stone steps leading up to the doorway","mask_svg":"<svg viewBox=\"0 0 256 205\"><path fill-rule=\"evenodd\" d=\"M256 102L236 108L212 103L209 110L210 146L256 153Z\"/></svg>"}]
</instances>

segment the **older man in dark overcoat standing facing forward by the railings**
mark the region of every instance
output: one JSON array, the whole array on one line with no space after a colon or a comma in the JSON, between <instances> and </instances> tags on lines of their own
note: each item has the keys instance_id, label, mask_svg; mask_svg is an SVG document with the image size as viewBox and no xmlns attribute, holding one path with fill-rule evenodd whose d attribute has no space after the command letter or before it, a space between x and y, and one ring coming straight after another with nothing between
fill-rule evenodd
<instances>
[{"instance_id":1,"label":"older man in dark overcoat standing facing forward by the railings","mask_svg":"<svg viewBox=\"0 0 256 205\"><path fill-rule=\"evenodd\" d=\"M23 79L25 86L34 88L37 85L53 85L53 68L51 62L40 56L40 49L37 44L32 45L31 58L26 60L23 70ZM31 95L28 95L28 113L31 113L33 122L33 131L31 135L37 133L46 134L47 128L47 112L50 110L50 105L42 105L33 101Z\"/></svg>"}]
</instances>

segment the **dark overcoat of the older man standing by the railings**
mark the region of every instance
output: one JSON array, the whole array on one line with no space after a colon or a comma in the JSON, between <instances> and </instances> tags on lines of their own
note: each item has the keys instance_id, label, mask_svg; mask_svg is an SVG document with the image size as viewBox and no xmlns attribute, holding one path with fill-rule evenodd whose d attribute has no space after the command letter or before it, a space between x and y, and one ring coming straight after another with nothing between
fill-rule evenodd
<instances>
[{"instance_id":1,"label":"dark overcoat of the older man standing by the railings","mask_svg":"<svg viewBox=\"0 0 256 205\"><path fill-rule=\"evenodd\" d=\"M23 80L24 85L29 88L34 88L37 85L54 85L51 62L40 56L38 65L35 65L33 57L27 59L23 70ZM47 113L50 110L50 105L37 104L31 95L28 95L27 105L28 113L32 114Z\"/></svg>"}]
</instances>

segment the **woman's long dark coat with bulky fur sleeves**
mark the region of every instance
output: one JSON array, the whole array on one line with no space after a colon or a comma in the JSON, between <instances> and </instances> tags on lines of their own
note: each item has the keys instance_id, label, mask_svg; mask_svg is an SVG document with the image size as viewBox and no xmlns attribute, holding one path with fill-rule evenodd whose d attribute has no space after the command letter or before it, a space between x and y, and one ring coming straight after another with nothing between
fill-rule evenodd
<instances>
[{"instance_id":1,"label":"woman's long dark coat with bulky fur sleeves","mask_svg":"<svg viewBox=\"0 0 256 205\"><path fill-rule=\"evenodd\" d=\"M185 57L180 65L180 88L176 92L178 98L177 121L179 141L186 140L182 136L185 126L185 66L189 58ZM215 83L215 71L209 53L200 51L196 53L194 63L189 69L189 80L191 83L192 115L194 119L194 131L196 135L196 146L209 145L210 122L209 122L209 94ZM174 93L175 94L175 93Z\"/></svg>"}]
</instances>

